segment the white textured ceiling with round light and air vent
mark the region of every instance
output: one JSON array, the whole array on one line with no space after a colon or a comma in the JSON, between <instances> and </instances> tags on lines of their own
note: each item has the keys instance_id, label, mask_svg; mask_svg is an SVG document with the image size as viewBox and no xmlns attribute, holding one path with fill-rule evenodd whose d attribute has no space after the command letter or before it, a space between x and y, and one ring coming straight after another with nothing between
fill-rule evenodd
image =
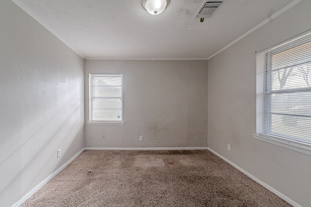
<instances>
[{"instance_id":1,"label":"white textured ceiling with round light and air vent","mask_svg":"<svg viewBox=\"0 0 311 207\"><path fill-rule=\"evenodd\" d=\"M12 0L83 58L207 59L300 0L226 0L193 18L204 0L170 0L150 15L141 0Z\"/></svg>"}]
</instances>

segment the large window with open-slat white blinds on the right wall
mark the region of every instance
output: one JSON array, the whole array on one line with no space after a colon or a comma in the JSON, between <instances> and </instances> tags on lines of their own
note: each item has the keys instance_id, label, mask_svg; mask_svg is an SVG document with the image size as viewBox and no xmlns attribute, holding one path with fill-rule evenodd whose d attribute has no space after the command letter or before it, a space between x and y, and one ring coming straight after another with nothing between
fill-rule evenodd
<instances>
[{"instance_id":1,"label":"large window with open-slat white blinds on the right wall","mask_svg":"<svg viewBox=\"0 0 311 207\"><path fill-rule=\"evenodd\" d=\"M257 55L257 134L311 150L311 34Z\"/></svg>"}]
</instances>

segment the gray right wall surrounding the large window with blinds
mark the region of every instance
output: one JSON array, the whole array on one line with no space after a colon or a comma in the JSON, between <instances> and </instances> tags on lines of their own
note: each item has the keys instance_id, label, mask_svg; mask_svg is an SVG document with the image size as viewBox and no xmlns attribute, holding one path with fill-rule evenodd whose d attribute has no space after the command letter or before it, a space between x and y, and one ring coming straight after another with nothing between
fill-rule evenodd
<instances>
[{"instance_id":1,"label":"gray right wall surrounding the large window with blinds","mask_svg":"<svg viewBox=\"0 0 311 207\"><path fill-rule=\"evenodd\" d=\"M303 207L311 204L311 157L255 140L256 54L311 29L303 0L208 60L208 147ZM231 151L227 151L231 144Z\"/></svg>"}]
</instances>

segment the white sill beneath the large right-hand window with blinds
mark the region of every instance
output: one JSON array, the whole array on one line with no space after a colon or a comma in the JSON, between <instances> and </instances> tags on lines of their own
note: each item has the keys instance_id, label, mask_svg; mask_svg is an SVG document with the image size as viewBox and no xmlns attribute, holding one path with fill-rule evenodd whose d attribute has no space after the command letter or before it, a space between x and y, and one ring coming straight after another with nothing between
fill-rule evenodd
<instances>
[{"instance_id":1,"label":"white sill beneath the large right-hand window with blinds","mask_svg":"<svg viewBox=\"0 0 311 207\"><path fill-rule=\"evenodd\" d=\"M286 140L281 140L277 137L263 137L257 134L252 134L254 139L266 142L266 143L271 143L280 147L284 147L290 150L294 150L296 152L300 152L306 155L311 156L311 145L308 144L303 144L303 143L294 143L294 142L289 142Z\"/></svg>"}]
</instances>

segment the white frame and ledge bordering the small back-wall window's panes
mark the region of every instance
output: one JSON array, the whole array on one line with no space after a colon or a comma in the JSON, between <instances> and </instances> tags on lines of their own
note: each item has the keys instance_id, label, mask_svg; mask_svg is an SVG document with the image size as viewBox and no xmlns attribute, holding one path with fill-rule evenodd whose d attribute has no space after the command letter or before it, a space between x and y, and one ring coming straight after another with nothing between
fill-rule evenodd
<instances>
[{"instance_id":1,"label":"white frame and ledge bordering the small back-wall window's panes","mask_svg":"<svg viewBox=\"0 0 311 207\"><path fill-rule=\"evenodd\" d=\"M92 81L93 77L121 77L121 97L107 97L107 98L121 98L121 120L92 120ZM123 125L123 74L101 74L89 73L88 78L88 125Z\"/></svg>"}]
</instances>

